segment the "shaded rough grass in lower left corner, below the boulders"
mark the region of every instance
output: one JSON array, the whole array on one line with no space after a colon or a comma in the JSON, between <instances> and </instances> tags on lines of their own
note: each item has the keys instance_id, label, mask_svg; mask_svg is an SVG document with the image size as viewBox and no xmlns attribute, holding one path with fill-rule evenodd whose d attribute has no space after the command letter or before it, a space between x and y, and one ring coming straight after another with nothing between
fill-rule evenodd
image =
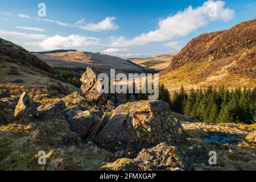
<instances>
[{"instance_id":1,"label":"shaded rough grass in lower left corner, below the boulders","mask_svg":"<svg viewBox=\"0 0 256 182\"><path fill-rule=\"evenodd\" d=\"M64 146L72 134L63 119L0 126L1 170L98 170L109 152L88 144ZM46 151L46 165L38 164L38 152Z\"/></svg>"}]
</instances>

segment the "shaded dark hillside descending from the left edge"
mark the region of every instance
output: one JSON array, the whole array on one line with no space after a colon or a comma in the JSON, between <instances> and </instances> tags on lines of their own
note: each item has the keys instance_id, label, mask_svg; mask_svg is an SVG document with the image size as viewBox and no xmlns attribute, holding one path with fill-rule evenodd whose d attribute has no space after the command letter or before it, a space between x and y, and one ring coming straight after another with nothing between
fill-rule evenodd
<instances>
[{"instance_id":1,"label":"shaded dark hillside descending from the left edge","mask_svg":"<svg viewBox=\"0 0 256 182\"><path fill-rule=\"evenodd\" d=\"M55 75L44 61L26 49L0 38L0 90L10 89L12 94L24 90L36 94L69 94L77 90Z\"/></svg>"}]
</instances>

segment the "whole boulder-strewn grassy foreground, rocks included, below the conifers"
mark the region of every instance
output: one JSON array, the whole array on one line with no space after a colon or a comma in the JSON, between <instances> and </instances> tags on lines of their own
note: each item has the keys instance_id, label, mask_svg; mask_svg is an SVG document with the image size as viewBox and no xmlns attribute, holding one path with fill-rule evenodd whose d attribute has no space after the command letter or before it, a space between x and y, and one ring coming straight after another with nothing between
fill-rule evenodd
<instances>
[{"instance_id":1,"label":"whole boulder-strewn grassy foreground, rocks included, below the conifers","mask_svg":"<svg viewBox=\"0 0 256 182\"><path fill-rule=\"evenodd\" d=\"M125 101L85 92L90 88L86 84L82 95L62 98L43 96L43 90L33 92L26 85L1 84L11 96L0 99L6 119L0 121L0 169L256 170L256 124L204 123L171 112L162 101ZM17 117L24 91L31 100ZM89 96L97 97L89 102ZM30 105L37 107L35 112L29 112ZM46 151L47 165L38 164L38 151ZM209 165L209 151L216 151L217 165Z\"/></svg>"}]
</instances>

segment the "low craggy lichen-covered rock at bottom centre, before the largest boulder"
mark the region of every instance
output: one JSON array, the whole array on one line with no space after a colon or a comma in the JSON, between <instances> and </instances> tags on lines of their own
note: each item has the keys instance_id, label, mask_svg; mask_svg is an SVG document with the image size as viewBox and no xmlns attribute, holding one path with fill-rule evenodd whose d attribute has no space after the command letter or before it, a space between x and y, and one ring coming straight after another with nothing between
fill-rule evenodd
<instances>
[{"instance_id":1,"label":"low craggy lichen-covered rock at bottom centre, before the largest boulder","mask_svg":"<svg viewBox=\"0 0 256 182\"><path fill-rule=\"evenodd\" d=\"M122 163L121 163L122 162ZM191 160L187 158L176 146L168 146L166 143L160 143L155 147L143 148L137 158L118 159L114 163L108 163L102 166L104 170L192 170Z\"/></svg>"}]
</instances>

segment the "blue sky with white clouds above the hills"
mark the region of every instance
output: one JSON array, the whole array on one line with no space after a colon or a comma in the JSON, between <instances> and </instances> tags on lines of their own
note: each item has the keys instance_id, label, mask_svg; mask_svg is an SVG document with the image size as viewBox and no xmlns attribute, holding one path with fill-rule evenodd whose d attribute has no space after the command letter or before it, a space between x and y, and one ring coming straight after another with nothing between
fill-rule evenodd
<instances>
[{"instance_id":1,"label":"blue sky with white clouds above the hills","mask_svg":"<svg viewBox=\"0 0 256 182\"><path fill-rule=\"evenodd\" d=\"M46 16L38 16L38 4ZM205 32L255 18L254 0L0 2L0 37L28 51L77 49L119 57L176 52Z\"/></svg>"}]
</instances>

